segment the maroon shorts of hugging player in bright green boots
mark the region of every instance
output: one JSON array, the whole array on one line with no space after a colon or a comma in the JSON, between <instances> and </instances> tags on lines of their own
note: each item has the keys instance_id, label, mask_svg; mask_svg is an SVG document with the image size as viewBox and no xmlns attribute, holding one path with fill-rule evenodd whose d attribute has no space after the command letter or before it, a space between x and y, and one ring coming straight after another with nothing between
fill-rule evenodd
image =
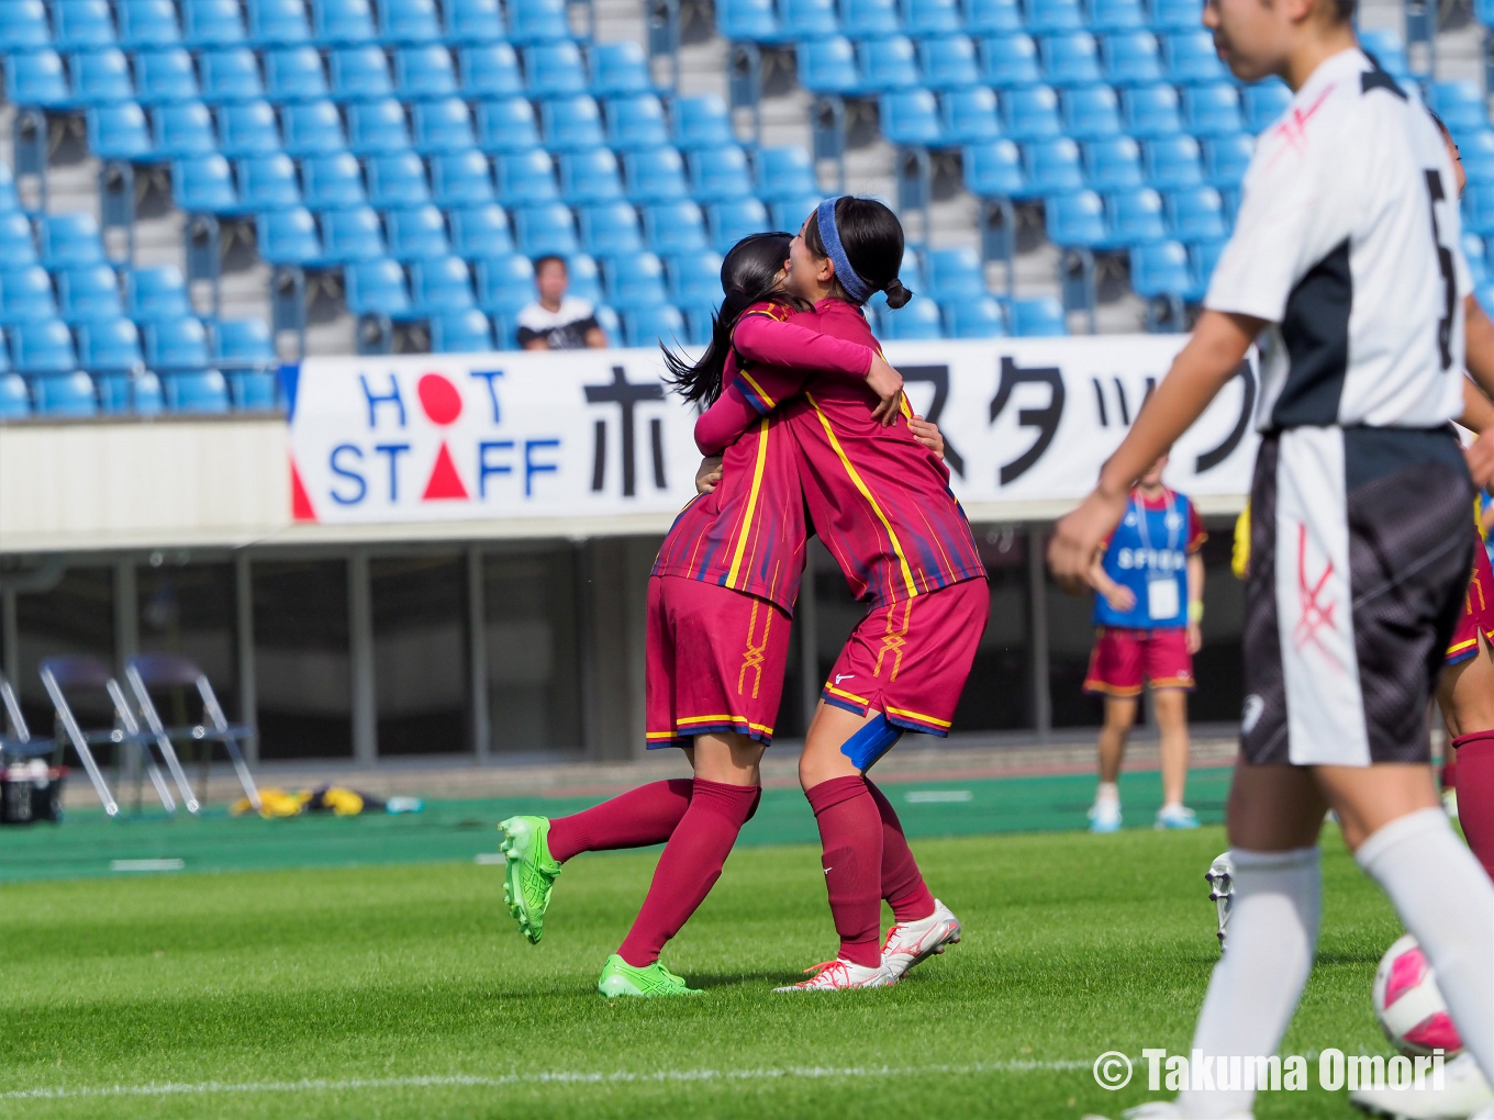
<instances>
[{"instance_id":1,"label":"maroon shorts of hugging player in bright green boots","mask_svg":"<svg viewBox=\"0 0 1494 1120\"><path fill-rule=\"evenodd\" d=\"M648 579L648 747L738 732L772 741L789 659L787 612L729 587Z\"/></svg>"}]
</instances>

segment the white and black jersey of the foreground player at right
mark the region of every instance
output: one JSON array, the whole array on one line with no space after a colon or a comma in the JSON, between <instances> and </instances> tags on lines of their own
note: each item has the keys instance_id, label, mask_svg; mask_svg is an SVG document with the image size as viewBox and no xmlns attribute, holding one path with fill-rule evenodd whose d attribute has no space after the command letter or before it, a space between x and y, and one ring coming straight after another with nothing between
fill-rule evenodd
<instances>
[{"instance_id":1,"label":"white and black jersey of the foreground player at right","mask_svg":"<svg viewBox=\"0 0 1494 1120\"><path fill-rule=\"evenodd\" d=\"M1261 133L1204 306L1271 324L1262 430L1427 429L1463 411L1455 184L1427 111L1357 48Z\"/></svg>"}]
</instances>

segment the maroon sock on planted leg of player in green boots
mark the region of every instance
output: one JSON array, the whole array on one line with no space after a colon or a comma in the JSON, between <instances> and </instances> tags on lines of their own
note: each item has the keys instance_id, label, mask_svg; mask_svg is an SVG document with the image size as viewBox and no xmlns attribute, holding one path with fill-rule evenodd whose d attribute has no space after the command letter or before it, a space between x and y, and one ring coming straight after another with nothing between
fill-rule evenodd
<instances>
[{"instance_id":1,"label":"maroon sock on planted leg of player in green boots","mask_svg":"<svg viewBox=\"0 0 1494 1120\"><path fill-rule=\"evenodd\" d=\"M701 778L696 778L693 785L689 809L659 857L642 909L638 911L633 927L617 950L619 956L633 968L645 968L656 962L665 942L680 932L696 906L711 893L716 880L722 877L726 856L737 842L737 833L751 820L757 802L762 800L762 788L757 785L728 785Z\"/></svg>"}]
</instances>

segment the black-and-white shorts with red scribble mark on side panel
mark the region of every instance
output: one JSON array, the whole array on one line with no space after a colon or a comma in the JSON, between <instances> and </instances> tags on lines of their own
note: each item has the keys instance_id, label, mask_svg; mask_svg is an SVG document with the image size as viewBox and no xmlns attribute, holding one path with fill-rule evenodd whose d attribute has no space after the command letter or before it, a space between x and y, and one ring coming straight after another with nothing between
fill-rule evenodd
<instances>
[{"instance_id":1,"label":"black-and-white shorts with red scribble mark on side panel","mask_svg":"<svg viewBox=\"0 0 1494 1120\"><path fill-rule=\"evenodd\" d=\"M1295 427L1250 490L1249 763L1427 762L1469 585L1473 485L1451 430Z\"/></svg>"}]
</instances>

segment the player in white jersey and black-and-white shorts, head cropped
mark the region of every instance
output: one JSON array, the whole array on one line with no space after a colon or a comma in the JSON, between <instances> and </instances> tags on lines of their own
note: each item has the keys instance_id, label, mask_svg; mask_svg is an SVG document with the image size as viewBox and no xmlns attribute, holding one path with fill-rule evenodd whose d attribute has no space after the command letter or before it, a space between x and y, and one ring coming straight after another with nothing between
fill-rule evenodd
<instances>
[{"instance_id":1,"label":"player in white jersey and black-and-white shorts, head cropped","mask_svg":"<svg viewBox=\"0 0 1494 1120\"><path fill-rule=\"evenodd\" d=\"M1479 1075L1494 1074L1494 884L1442 812L1427 726L1473 545L1473 487L1448 426L1463 412L1470 281L1437 127L1358 49L1352 10L1207 6L1236 76L1279 75L1295 96L1256 143L1192 337L1049 560L1085 585L1131 485L1259 339L1234 908L1192 1045L1276 1053L1316 951L1331 806L1421 941L1472 1056L1440 1093L1400 1093L1395 1114L1494 1117ZM1128 1116L1249 1117L1253 1096L1210 1081Z\"/></svg>"}]
</instances>

